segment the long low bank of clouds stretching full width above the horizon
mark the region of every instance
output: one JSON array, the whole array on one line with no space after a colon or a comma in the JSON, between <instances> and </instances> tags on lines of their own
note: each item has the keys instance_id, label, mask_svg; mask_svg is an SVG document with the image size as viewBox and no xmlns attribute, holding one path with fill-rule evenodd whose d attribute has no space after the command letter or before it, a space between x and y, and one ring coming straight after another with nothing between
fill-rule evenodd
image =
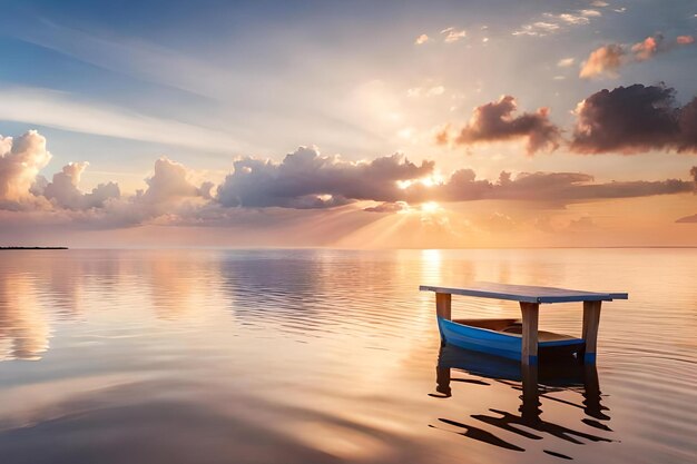
<instances>
[{"instance_id":1,"label":"long low bank of clouds stretching full width above the horizon","mask_svg":"<svg viewBox=\"0 0 697 464\"><path fill-rule=\"evenodd\" d=\"M274 224L273 217L297 215L289 209L336 208L357 201L374 201L374 206L367 208L359 206L365 211L382 214L428 213L436 205L434 201L505 200L562 207L611 198L688 194L696 191L697 186L697 167L690 171L689 180L597 182L583 172L512 175L503 171L493 181L478 178L472 169L459 169L443 178L436 174L433 161L416 165L401 155L353 162L338 156L323 156L316 148L301 147L281 162L251 157L237 159L234 171L215 189L215 195L210 194L212 182L197 186L192 181L190 170L163 157L155 161L153 175L145 179L147 188L124 196L115 182L99 185L89 192L80 190L87 162L66 165L51 181L38 176L36 166L43 166L49 155L46 139L36 131L16 140L2 140L4 146L11 145L4 151L14 151L12 156L38 159L33 165L23 166L29 174L22 171L21 175L21 207L10 201L0 203L0 209L6 209L0 214L3 220L13 225L21 220L32 227L228 226L249 217L243 211L255 210L262 216L255 216L258 220L254 224L268 225ZM7 152L0 159L6 158ZM286 213L279 213L284 209ZM266 214L273 217L265 218ZM505 218L492 220L499 224Z\"/></svg>"}]
</instances>

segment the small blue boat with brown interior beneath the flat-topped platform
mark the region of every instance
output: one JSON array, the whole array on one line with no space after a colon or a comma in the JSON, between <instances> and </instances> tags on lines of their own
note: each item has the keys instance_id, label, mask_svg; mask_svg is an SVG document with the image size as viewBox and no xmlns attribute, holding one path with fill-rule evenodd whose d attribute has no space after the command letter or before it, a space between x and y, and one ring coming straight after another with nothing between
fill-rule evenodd
<instances>
[{"instance_id":1,"label":"small blue boat with brown interior beneath the flat-topped platform","mask_svg":"<svg viewBox=\"0 0 697 464\"><path fill-rule=\"evenodd\" d=\"M438 318L445 345L489 353L521 361L522 320L520 319L452 319ZM538 332L538 356L541 361L582 359L582 338L552 332Z\"/></svg>"}]
</instances>

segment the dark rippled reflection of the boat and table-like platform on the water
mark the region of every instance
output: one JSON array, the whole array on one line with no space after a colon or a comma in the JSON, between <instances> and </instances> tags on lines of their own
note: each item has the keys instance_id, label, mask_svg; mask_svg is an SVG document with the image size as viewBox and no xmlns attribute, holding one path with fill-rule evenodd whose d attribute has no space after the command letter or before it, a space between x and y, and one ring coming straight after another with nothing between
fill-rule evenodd
<instances>
[{"instance_id":1,"label":"dark rippled reflection of the boat and table-like platform on the water","mask_svg":"<svg viewBox=\"0 0 697 464\"><path fill-rule=\"evenodd\" d=\"M522 438L540 441L543 434L562 440L567 443L582 445L588 442L612 442L612 440L591 433L581 432L549 419L542 418L541 399L553 402L565 408L577 408L583 412L582 424L602 432L612 432L605 424L610 417L608 408L601 404L598 371L595 365L580 364L576 361L550 363L540 366L522 366L518 362L502 359L481 353L464 351L453 346L442 346L435 368L436 394L430 396L450 398L453 387L458 384L470 384L491 387L494 384L509 386L521 393L520 407L517 413L489 407L488 414L472 414L467 423L462 419L439 418L442 425L429 425L457 433L464 437L514 452L524 452L519 444L511 443L499 436L500 432L514 434ZM458 373L468 374L468 378L455 377ZM580 395L580 402L553 396L556 393ZM565 417L568 416L565 412ZM487 427L482 428L482 427ZM452 428L455 427L455 428ZM490 431L493 432L490 432ZM572 457L543 450L548 455L571 460Z\"/></svg>"}]
</instances>

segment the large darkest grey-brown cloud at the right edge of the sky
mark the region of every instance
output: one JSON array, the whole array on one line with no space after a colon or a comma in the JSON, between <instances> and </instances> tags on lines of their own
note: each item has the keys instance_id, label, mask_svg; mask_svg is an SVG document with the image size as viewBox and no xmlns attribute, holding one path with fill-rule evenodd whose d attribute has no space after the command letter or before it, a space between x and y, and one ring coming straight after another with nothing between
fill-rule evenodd
<instances>
[{"instance_id":1,"label":"large darkest grey-brown cloud at the right edge of the sky","mask_svg":"<svg viewBox=\"0 0 697 464\"><path fill-rule=\"evenodd\" d=\"M635 83L581 101L570 148L581 154L650 149L697 152L697 98L676 106L675 90Z\"/></svg>"}]
</instances>

